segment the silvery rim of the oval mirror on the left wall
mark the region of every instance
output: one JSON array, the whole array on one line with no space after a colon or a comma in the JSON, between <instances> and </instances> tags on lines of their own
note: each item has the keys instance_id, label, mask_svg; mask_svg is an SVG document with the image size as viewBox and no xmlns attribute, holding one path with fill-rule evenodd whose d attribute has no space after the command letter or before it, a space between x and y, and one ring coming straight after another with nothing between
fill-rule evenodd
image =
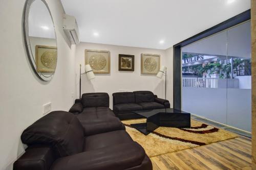
<instances>
[{"instance_id":1,"label":"silvery rim of the oval mirror on the left wall","mask_svg":"<svg viewBox=\"0 0 256 170\"><path fill-rule=\"evenodd\" d=\"M55 74L56 68L52 72L52 74L49 75L49 76L45 76L41 72L37 71L37 65L36 65L36 62L35 62L35 59L34 59L34 56L33 56L33 53L32 53L31 44L30 44L30 39L29 39L29 12L30 12L30 7L31 7L31 5L33 4L34 1L35 0L26 0L26 2L25 2L25 6L24 6L24 10L23 10L23 38L24 38L26 53L27 53L30 65L31 65L34 73L36 74L36 76L40 80L50 81L53 78L54 74ZM54 33L55 33L55 39L56 39L56 47L57 47L57 35L56 35L56 29L55 29L52 13L51 13L50 8L49 8L48 4L46 3L46 1L45 0L40 0L40 1L45 4L45 6L46 6L46 8L47 8L47 10L48 10L48 12L51 16L52 23L53 23L53 28L54 28ZM58 52L57 52L57 61L58 61ZM56 67L57 67L57 63L56 63Z\"/></svg>"}]
</instances>

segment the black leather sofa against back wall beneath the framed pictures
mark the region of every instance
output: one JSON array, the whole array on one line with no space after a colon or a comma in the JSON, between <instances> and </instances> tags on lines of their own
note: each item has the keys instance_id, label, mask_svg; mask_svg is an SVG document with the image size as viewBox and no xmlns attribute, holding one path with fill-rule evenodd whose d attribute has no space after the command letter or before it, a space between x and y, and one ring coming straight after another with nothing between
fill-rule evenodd
<instances>
[{"instance_id":1,"label":"black leather sofa against back wall beneath the framed pictures","mask_svg":"<svg viewBox=\"0 0 256 170\"><path fill-rule=\"evenodd\" d=\"M151 91L117 92L112 95L113 111L121 120L141 118L133 113L137 110L170 108L169 101L157 98Z\"/></svg>"}]
</instances>

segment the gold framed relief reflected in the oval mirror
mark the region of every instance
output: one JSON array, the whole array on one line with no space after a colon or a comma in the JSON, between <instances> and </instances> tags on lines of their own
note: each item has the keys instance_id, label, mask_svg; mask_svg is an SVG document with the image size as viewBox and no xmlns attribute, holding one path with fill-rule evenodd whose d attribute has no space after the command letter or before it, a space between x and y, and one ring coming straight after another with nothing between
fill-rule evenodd
<instances>
[{"instance_id":1,"label":"gold framed relief reflected in the oval mirror","mask_svg":"<svg viewBox=\"0 0 256 170\"><path fill-rule=\"evenodd\" d=\"M35 63L37 72L53 73L57 64L57 47L36 45Z\"/></svg>"}]
</instances>

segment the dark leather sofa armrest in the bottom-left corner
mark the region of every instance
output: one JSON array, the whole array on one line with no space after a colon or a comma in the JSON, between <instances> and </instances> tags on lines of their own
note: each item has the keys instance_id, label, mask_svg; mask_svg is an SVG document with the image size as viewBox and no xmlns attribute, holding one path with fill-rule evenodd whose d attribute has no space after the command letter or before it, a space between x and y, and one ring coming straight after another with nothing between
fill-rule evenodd
<instances>
[{"instance_id":1,"label":"dark leather sofa armrest in the bottom-left corner","mask_svg":"<svg viewBox=\"0 0 256 170\"><path fill-rule=\"evenodd\" d=\"M26 152L13 163L13 170L48 170L58 158L50 147L29 147Z\"/></svg>"}]
</instances>

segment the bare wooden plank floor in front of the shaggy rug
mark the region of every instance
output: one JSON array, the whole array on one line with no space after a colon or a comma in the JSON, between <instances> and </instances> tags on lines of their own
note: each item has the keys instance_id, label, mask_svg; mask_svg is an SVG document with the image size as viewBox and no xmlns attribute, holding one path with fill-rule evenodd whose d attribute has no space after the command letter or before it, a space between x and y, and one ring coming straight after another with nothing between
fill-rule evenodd
<instances>
[{"instance_id":1,"label":"bare wooden plank floor in front of the shaggy rug","mask_svg":"<svg viewBox=\"0 0 256 170\"><path fill-rule=\"evenodd\" d=\"M251 139L238 137L151 158L154 170L251 169Z\"/></svg>"}]
</instances>

